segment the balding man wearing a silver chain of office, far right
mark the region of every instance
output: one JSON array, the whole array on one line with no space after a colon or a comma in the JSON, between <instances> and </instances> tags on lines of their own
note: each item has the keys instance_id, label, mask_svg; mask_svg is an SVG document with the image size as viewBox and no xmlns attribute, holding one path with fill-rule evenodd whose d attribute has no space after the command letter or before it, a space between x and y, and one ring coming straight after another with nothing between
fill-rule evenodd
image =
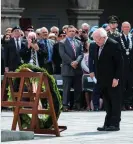
<instances>
[{"instance_id":1,"label":"balding man wearing a silver chain of office, far right","mask_svg":"<svg viewBox=\"0 0 133 144\"><path fill-rule=\"evenodd\" d=\"M124 58L124 93L123 110L132 109L132 87L133 87L133 37L130 33L131 25L129 22L123 22L121 26L122 33L119 37L122 55Z\"/></svg>"}]
</instances>

